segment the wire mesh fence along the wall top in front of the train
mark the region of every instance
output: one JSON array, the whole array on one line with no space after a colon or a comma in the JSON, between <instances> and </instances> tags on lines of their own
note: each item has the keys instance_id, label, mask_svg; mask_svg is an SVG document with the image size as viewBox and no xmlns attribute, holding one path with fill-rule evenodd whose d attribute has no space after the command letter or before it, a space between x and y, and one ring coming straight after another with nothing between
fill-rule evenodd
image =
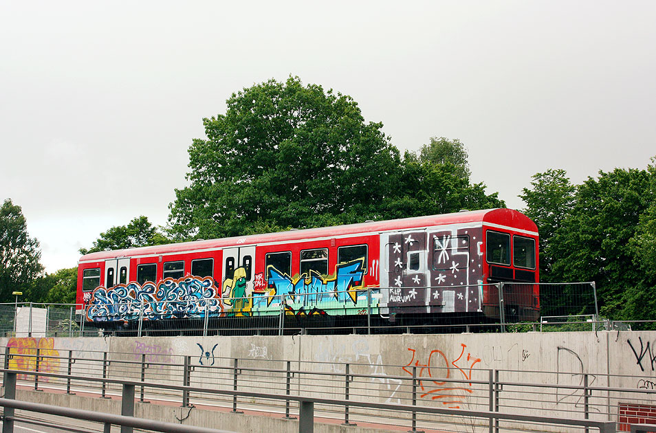
<instances>
[{"instance_id":1,"label":"wire mesh fence along the wall top in front of the train","mask_svg":"<svg viewBox=\"0 0 656 433\"><path fill-rule=\"evenodd\" d=\"M243 298L153 297L81 306L0 304L0 332L17 337L290 335L596 331L593 282L376 287Z\"/></svg>"}]
</instances>

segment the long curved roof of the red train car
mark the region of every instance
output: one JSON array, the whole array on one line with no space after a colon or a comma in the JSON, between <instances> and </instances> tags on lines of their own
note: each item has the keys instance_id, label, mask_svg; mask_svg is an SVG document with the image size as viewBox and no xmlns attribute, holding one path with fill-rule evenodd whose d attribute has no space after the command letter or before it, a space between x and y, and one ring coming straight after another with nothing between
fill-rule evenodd
<instances>
[{"instance_id":1,"label":"long curved roof of the red train car","mask_svg":"<svg viewBox=\"0 0 656 433\"><path fill-rule=\"evenodd\" d=\"M334 225L303 230L288 230L286 232L252 234L248 236L234 236L199 240L192 242L171 243L166 245L153 245L151 247L135 247L129 249L115 249L82 256L78 263L106 260L108 258L128 258L133 256L155 256L159 254L175 254L189 252L196 249L214 249L223 247L241 247L261 243L276 243L287 241L300 241L306 238L329 238L332 236L347 236L359 233L388 232L391 230L405 230L434 225L448 225L457 223L488 223L503 227L514 227L529 234L537 234L538 227L525 214L512 209L485 209L461 211L452 214L415 216L413 218L393 219L387 221L371 221L349 225Z\"/></svg>"}]
</instances>

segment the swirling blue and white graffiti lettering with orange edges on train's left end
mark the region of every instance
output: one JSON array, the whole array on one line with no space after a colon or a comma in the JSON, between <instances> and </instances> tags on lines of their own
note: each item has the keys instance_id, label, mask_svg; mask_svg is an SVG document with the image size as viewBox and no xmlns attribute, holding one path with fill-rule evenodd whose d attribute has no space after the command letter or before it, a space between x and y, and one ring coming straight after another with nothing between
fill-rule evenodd
<instances>
[{"instance_id":1,"label":"swirling blue and white graffiti lettering with orange edges on train's left end","mask_svg":"<svg viewBox=\"0 0 656 433\"><path fill-rule=\"evenodd\" d=\"M100 321L192 318L221 315L220 293L211 277L166 278L155 285L137 282L93 291L87 319ZM143 311L142 311L143 310Z\"/></svg>"}]
</instances>

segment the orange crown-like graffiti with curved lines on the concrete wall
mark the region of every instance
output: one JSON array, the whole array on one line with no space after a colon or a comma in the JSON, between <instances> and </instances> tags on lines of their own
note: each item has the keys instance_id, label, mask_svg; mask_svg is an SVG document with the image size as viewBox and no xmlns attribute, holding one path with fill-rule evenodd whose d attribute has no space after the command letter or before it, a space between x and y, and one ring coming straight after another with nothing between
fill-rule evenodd
<instances>
[{"instance_id":1,"label":"orange crown-like graffiti with curved lines on the concrete wall","mask_svg":"<svg viewBox=\"0 0 656 433\"><path fill-rule=\"evenodd\" d=\"M447 355L438 349L430 351L427 357L418 354L413 348L408 348L412 354L412 359L406 366L402 367L408 375L413 375L413 367L417 377L430 377L434 375L443 376L444 379L461 379L462 381L439 381L439 380L419 380L419 388L422 390L420 397L430 398L439 401L444 406L451 409L459 409L465 402L468 395L473 394L472 370L474 366L481 362L481 359L473 356L469 351L465 355L467 345L461 344L461 351L457 358L452 361ZM425 355L425 354L424 354ZM424 359L424 361L422 361ZM454 377L452 377L452 373ZM437 379L437 377L436 377Z\"/></svg>"}]
</instances>

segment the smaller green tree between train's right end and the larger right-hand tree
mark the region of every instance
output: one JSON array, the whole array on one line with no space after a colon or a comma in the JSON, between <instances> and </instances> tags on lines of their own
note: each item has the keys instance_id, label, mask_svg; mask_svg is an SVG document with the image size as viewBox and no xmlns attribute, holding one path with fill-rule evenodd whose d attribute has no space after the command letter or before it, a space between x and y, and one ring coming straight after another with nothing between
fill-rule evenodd
<instances>
[{"instance_id":1,"label":"smaller green tree between train's right end and the larger right-hand tree","mask_svg":"<svg viewBox=\"0 0 656 433\"><path fill-rule=\"evenodd\" d=\"M571 213L576 186L562 169L536 173L532 179L531 188L523 188L519 197L527 206L523 212L538 225L540 232L540 280L550 282L553 281L551 267L556 260L551 251L552 239L562 220Z\"/></svg>"}]
</instances>

